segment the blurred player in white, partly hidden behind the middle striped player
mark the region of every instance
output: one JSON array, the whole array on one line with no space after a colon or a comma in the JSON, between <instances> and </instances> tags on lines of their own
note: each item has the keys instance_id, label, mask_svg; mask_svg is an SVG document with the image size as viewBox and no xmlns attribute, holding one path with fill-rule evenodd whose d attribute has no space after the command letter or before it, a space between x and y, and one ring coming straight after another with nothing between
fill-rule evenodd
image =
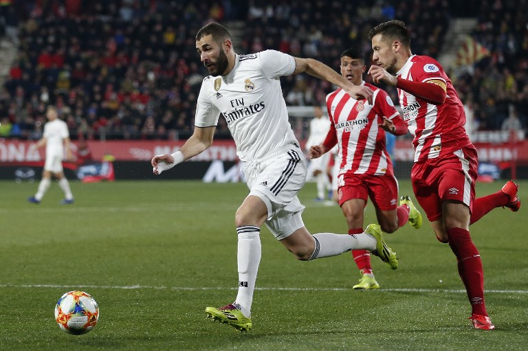
<instances>
[{"instance_id":1,"label":"blurred player in white, partly hidden behind the middle striped player","mask_svg":"<svg viewBox=\"0 0 528 351\"><path fill-rule=\"evenodd\" d=\"M330 128L330 120L322 112L320 106L314 107L314 118L310 121L310 134L306 141L305 149L309 152L311 146L319 145L325 140ZM313 159L308 165L308 175L316 181L317 198L316 201L323 201L327 197L327 190L330 190L330 179L326 168L329 161L329 155Z\"/></svg>"}]
</instances>

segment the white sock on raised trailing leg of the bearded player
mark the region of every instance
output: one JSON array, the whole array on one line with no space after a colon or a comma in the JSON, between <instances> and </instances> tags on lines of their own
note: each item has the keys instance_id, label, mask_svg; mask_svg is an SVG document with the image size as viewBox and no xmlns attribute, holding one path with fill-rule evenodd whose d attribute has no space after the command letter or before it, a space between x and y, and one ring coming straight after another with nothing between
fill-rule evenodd
<instances>
[{"instance_id":1,"label":"white sock on raised trailing leg of the bearded player","mask_svg":"<svg viewBox=\"0 0 528 351\"><path fill-rule=\"evenodd\" d=\"M318 233L314 234L313 238L316 240L316 249L310 260L337 256L350 250L373 251L376 249L376 239L370 234Z\"/></svg>"}]
</instances>

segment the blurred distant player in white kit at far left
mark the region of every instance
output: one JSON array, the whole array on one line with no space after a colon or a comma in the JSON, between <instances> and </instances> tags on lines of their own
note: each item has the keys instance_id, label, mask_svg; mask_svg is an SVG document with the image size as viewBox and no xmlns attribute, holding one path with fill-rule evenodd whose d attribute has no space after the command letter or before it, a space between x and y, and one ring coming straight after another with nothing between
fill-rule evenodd
<instances>
[{"instance_id":1,"label":"blurred distant player in white kit at far left","mask_svg":"<svg viewBox=\"0 0 528 351\"><path fill-rule=\"evenodd\" d=\"M67 159L72 159L72 150L69 149L69 132L66 122L58 118L57 110L54 106L47 106L46 117L48 122L44 125L42 138L32 145L32 148L46 146L46 160L41 183L35 196L31 196L30 203L41 203L42 198L50 188L52 175L58 180L58 185L64 192L63 205L74 203L72 190L69 188L68 180L63 171L64 152L66 150Z\"/></svg>"}]
</instances>

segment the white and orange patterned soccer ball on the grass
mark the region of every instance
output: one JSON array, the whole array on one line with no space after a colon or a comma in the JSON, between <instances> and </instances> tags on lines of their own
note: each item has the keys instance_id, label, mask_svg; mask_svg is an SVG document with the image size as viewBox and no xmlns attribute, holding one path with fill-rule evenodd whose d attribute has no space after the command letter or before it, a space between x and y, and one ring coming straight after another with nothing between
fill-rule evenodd
<instances>
[{"instance_id":1,"label":"white and orange patterned soccer ball on the grass","mask_svg":"<svg viewBox=\"0 0 528 351\"><path fill-rule=\"evenodd\" d=\"M55 321L69 334L85 334L96 326L98 320L97 302L84 291L65 293L55 306Z\"/></svg>"}]
</instances>

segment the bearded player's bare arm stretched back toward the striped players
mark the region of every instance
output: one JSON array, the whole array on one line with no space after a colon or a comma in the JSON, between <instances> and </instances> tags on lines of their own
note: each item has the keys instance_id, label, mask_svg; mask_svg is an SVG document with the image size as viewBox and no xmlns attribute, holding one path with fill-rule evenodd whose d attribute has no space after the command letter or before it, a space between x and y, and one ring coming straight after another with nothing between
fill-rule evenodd
<instances>
[{"instance_id":1,"label":"bearded player's bare arm stretched back toward the striped players","mask_svg":"<svg viewBox=\"0 0 528 351\"><path fill-rule=\"evenodd\" d=\"M347 91L352 98L356 100L366 99L369 104L372 104L373 91L369 87L364 85L354 85L347 78L341 76L338 72L334 71L324 63L314 60L313 58L295 58L296 68L294 74L308 73L310 76L326 80L334 85Z\"/></svg>"}]
</instances>

